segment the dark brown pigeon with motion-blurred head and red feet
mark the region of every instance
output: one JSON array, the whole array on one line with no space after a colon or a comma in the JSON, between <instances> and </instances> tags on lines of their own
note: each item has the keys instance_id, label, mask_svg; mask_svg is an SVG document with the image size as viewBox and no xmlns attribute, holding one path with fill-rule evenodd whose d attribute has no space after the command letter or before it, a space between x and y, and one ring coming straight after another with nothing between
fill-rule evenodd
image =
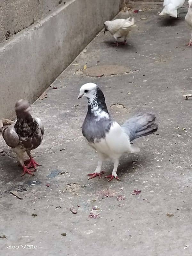
<instances>
[{"instance_id":1,"label":"dark brown pigeon with motion-blurred head and red feet","mask_svg":"<svg viewBox=\"0 0 192 256\"><path fill-rule=\"evenodd\" d=\"M18 160L23 168L23 176L26 172L34 176L36 166L40 164L31 156L31 150L37 148L43 139L44 126L39 118L34 119L29 113L29 103L26 100L19 100L15 105L17 121L9 126L3 126L0 121L0 129L6 144L13 148ZM24 154L28 154L29 159L24 162ZM27 167L25 166L27 165ZM35 170L29 170L29 168Z\"/></svg>"}]
</instances>

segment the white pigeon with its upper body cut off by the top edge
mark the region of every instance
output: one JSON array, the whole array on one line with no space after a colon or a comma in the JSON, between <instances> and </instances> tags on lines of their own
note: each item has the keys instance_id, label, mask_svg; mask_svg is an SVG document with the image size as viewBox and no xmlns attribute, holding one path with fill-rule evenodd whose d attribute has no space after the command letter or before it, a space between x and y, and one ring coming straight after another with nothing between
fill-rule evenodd
<instances>
[{"instance_id":1,"label":"white pigeon with its upper body cut off by the top edge","mask_svg":"<svg viewBox=\"0 0 192 256\"><path fill-rule=\"evenodd\" d=\"M164 0L163 6L164 9L160 16L169 15L171 17L178 18L179 17L179 8L183 6L185 0Z\"/></svg>"}]
</instances>

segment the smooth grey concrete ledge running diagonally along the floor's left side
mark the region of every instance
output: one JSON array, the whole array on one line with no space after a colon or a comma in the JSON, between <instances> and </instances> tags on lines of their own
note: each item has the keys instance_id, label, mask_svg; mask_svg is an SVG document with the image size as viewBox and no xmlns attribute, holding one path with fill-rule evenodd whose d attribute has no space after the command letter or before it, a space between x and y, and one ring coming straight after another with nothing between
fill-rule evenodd
<instances>
[{"instance_id":1,"label":"smooth grey concrete ledge running diagonally along the floor's left side","mask_svg":"<svg viewBox=\"0 0 192 256\"><path fill-rule=\"evenodd\" d=\"M35 101L120 10L121 0L71 0L0 49L0 117Z\"/></svg>"}]
</instances>

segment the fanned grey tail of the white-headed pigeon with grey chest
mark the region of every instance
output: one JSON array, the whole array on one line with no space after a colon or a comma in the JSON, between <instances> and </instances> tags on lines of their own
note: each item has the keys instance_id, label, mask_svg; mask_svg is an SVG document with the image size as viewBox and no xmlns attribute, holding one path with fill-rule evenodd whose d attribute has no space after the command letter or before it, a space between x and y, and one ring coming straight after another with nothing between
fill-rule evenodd
<instances>
[{"instance_id":1,"label":"fanned grey tail of the white-headed pigeon with grey chest","mask_svg":"<svg viewBox=\"0 0 192 256\"><path fill-rule=\"evenodd\" d=\"M132 141L156 132L158 125L156 124L156 116L153 113L140 112L128 119L121 128L129 136L130 141Z\"/></svg>"}]
</instances>

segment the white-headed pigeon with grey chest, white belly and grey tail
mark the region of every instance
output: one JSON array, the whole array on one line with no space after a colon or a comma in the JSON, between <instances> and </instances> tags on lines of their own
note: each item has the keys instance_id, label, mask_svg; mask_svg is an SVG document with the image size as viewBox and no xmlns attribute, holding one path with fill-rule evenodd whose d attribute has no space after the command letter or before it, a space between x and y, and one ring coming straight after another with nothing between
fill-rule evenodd
<instances>
[{"instance_id":1,"label":"white-headed pigeon with grey chest, white belly and grey tail","mask_svg":"<svg viewBox=\"0 0 192 256\"><path fill-rule=\"evenodd\" d=\"M96 176L101 178L102 162L110 158L113 163L112 175L108 181L116 178L119 157L126 153L138 153L140 149L130 142L141 136L156 132L156 116L149 112L140 112L128 119L123 125L117 124L110 116L103 92L93 83L84 84L80 88L78 99L86 97L88 111L82 125L82 133L88 144L97 151L99 161L95 172L87 174L92 179Z\"/></svg>"}]
</instances>

